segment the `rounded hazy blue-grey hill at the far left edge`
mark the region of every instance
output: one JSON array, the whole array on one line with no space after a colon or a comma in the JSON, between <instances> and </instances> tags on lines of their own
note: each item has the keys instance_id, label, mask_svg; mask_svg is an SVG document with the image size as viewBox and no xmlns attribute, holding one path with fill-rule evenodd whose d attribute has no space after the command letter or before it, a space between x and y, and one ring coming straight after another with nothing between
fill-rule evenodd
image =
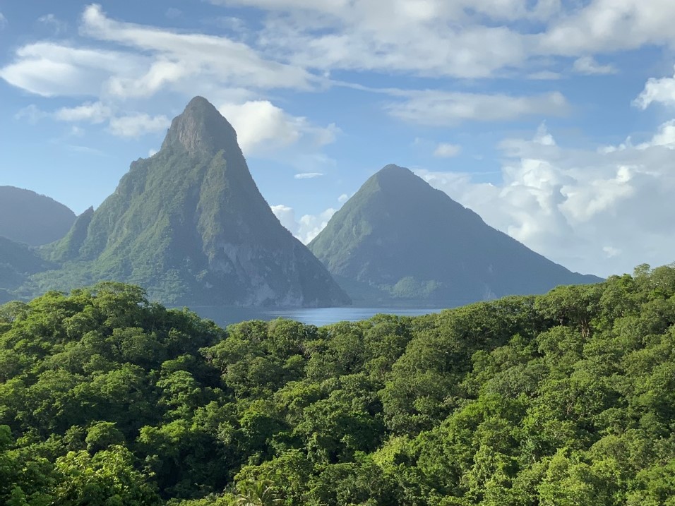
<instances>
[{"instance_id":1,"label":"rounded hazy blue-grey hill at the far left edge","mask_svg":"<svg viewBox=\"0 0 675 506\"><path fill-rule=\"evenodd\" d=\"M0 186L0 236L40 246L61 239L75 221L75 213L34 191Z\"/></svg>"}]
</instances>

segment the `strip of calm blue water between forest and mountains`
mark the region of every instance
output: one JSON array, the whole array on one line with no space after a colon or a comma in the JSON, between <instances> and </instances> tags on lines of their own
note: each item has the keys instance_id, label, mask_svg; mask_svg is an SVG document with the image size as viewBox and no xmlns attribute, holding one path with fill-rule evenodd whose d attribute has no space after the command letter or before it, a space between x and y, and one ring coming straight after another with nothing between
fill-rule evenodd
<instances>
[{"instance_id":1,"label":"strip of calm blue water between forest and mountains","mask_svg":"<svg viewBox=\"0 0 675 506\"><path fill-rule=\"evenodd\" d=\"M191 308L202 318L209 318L221 327L244 320L274 320L288 318L309 325L328 325L342 321L367 320L378 313L388 315L419 316L438 313L443 308L225 308L197 307Z\"/></svg>"}]
</instances>

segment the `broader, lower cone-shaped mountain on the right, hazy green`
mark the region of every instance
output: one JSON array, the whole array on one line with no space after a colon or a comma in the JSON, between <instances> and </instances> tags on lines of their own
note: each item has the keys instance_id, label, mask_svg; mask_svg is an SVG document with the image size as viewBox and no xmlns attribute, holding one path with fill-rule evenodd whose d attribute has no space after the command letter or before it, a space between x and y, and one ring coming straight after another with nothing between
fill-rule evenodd
<instances>
[{"instance_id":1,"label":"broader, lower cone-shaped mountain on the right, hazy green","mask_svg":"<svg viewBox=\"0 0 675 506\"><path fill-rule=\"evenodd\" d=\"M534 253L395 165L366 181L309 248L354 303L456 306L600 280Z\"/></svg>"}]
</instances>

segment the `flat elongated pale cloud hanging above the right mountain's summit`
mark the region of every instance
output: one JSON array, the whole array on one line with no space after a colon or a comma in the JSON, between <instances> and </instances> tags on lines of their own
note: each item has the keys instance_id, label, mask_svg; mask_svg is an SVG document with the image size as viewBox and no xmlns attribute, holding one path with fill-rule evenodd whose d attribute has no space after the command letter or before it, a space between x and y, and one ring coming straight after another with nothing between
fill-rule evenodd
<instances>
[{"instance_id":1,"label":"flat elongated pale cloud hanging above the right mountain's summit","mask_svg":"<svg viewBox=\"0 0 675 506\"><path fill-rule=\"evenodd\" d=\"M389 113L430 126L453 126L469 120L508 121L520 116L562 116L569 109L567 100L558 92L531 97L436 90L398 93L407 95L407 100L388 104Z\"/></svg>"}]
</instances>

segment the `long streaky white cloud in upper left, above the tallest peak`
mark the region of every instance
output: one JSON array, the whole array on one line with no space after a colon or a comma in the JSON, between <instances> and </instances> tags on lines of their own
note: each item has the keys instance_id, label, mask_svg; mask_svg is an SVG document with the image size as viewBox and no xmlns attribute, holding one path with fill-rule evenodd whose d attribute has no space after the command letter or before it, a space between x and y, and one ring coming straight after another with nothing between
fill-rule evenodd
<instances>
[{"instance_id":1,"label":"long streaky white cloud in upper left, above the tallest peak","mask_svg":"<svg viewBox=\"0 0 675 506\"><path fill-rule=\"evenodd\" d=\"M45 23L56 18L44 17ZM0 78L28 92L120 99L150 97L160 90L215 97L214 90L310 88L311 75L298 66L263 58L227 37L184 33L107 18L98 5L85 8L80 35L112 42L116 51L36 42L16 49ZM212 92L208 94L207 92ZM221 96L220 94L217 96Z\"/></svg>"}]
</instances>

